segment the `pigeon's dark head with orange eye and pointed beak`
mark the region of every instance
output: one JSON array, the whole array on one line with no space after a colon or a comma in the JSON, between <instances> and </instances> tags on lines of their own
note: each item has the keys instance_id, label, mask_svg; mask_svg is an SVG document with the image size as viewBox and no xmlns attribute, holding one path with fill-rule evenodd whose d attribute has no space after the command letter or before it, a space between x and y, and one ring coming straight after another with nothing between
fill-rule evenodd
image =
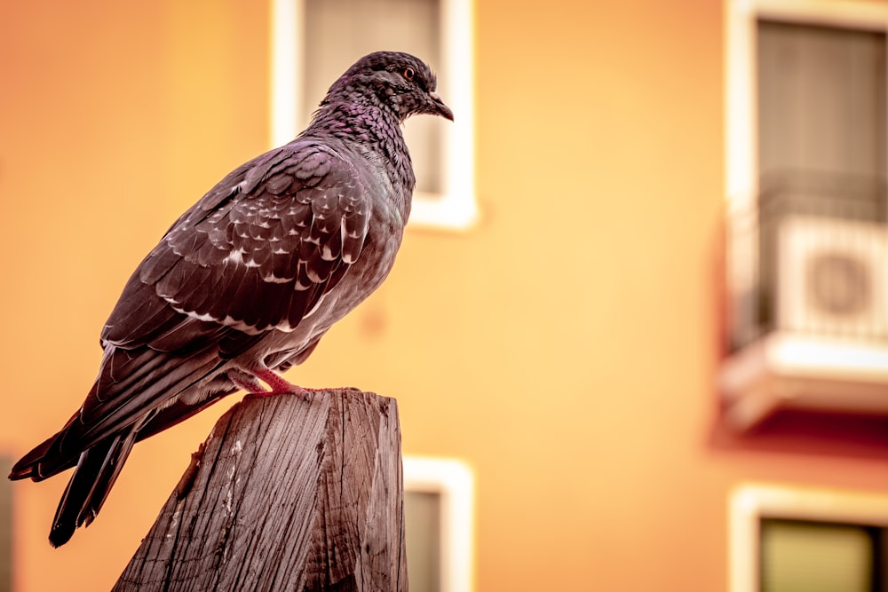
<instances>
[{"instance_id":1,"label":"pigeon's dark head with orange eye and pointed beak","mask_svg":"<svg viewBox=\"0 0 888 592\"><path fill-rule=\"evenodd\" d=\"M340 100L370 99L391 110L399 122L410 115L453 112L435 89L438 79L423 60L400 51L377 51L359 59L330 87L321 106Z\"/></svg>"}]
</instances>

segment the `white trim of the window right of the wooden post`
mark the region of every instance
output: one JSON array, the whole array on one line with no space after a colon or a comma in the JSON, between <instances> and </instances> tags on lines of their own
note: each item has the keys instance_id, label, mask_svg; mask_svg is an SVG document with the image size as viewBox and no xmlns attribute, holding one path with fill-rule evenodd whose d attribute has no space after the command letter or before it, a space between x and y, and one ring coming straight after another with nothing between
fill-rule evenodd
<instances>
[{"instance_id":1,"label":"white trim of the window right of the wooden post","mask_svg":"<svg viewBox=\"0 0 888 592\"><path fill-rule=\"evenodd\" d=\"M473 589L473 490L472 470L463 462L404 457L404 491L440 495L441 592L471 592Z\"/></svg>"}]
</instances>

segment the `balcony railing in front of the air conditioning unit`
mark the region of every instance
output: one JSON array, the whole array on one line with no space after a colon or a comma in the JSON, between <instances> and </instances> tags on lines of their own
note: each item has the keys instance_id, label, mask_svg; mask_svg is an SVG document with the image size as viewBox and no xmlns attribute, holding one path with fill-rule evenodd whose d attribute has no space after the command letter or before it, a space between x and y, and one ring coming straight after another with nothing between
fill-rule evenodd
<instances>
[{"instance_id":1,"label":"balcony railing in front of the air conditioning unit","mask_svg":"<svg viewBox=\"0 0 888 592\"><path fill-rule=\"evenodd\" d=\"M888 341L888 204L883 180L762 179L730 220L732 347L775 330Z\"/></svg>"}]
</instances>

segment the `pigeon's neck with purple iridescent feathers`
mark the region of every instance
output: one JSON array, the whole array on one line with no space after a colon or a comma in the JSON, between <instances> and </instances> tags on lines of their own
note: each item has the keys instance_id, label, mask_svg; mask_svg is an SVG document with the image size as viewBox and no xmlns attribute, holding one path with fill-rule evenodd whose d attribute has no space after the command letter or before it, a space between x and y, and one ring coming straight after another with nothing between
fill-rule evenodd
<instances>
[{"instance_id":1,"label":"pigeon's neck with purple iridescent feathers","mask_svg":"<svg viewBox=\"0 0 888 592\"><path fill-rule=\"evenodd\" d=\"M392 177L392 185L405 186L408 190L406 197L413 193L416 185L413 164L400 122L391 111L360 102L322 105L304 135L317 132L330 134L355 146L361 153L379 154L391 164L386 172Z\"/></svg>"}]
</instances>

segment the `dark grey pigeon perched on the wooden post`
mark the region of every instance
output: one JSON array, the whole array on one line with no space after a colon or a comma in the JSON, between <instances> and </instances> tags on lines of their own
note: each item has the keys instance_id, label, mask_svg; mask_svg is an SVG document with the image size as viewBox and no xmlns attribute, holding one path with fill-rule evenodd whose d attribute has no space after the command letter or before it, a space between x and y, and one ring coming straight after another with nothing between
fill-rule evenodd
<instances>
[{"instance_id":1,"label":"dark grey pigeon perched on the wooden post","mask_svg":"<svg viewBox=\"0 0 888 592\"><path fill-rule=\"evenodd\" d=\"M99 375L59 433L9 478L75 467L52 520L90 525L132 446L219 399L305 389L281 372L392 269L416 178L401 124L453 112L408 53L377 51L330 87L289 144L232 171L170 226L101 332Z\"/></svg>"}]
</instances>

